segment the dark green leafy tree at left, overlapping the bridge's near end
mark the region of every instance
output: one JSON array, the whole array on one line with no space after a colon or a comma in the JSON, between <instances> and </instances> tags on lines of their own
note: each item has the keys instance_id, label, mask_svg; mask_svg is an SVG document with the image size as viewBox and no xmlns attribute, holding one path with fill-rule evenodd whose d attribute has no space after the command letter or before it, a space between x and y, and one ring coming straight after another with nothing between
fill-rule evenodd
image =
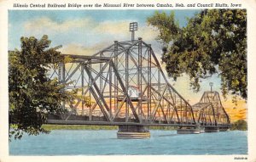
<instances>
[{"instance_id":1,"label":"dark green leafy tree at left, overlapping the bridge's near end","mask_svg":"<svg viewBox=\"0 0 256 162\"><path fill-rule=\"evenodd\" d=\"M61 101L73 102L75 92L63 91L67 85L50 80L47 73L56 64L66 61L57 51L60 47L49 47L48 36L40 40L21 37L20 51L9 51L9 137L22 137L47 133L41 126L47 113L63 113Z\"/></svg>"}]
</instances>

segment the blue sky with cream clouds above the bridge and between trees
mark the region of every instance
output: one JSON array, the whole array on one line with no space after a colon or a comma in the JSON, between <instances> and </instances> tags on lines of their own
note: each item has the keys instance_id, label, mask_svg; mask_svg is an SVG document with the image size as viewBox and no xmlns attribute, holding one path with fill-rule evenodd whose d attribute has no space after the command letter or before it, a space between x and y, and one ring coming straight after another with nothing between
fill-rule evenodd
<instances>
[{"instance_id":1,"label":"blue sky with cream clouds above the bridge and between trees","mask_svg":"<svg viewBox=\"0 0 256 162\"><path fill-rule=\"evenodd\" d=\"M21 36L35 36L38 39L45 34L51 40L51 46L61 45L61 52L67 54L92 55L113 41L131 40L129 24L136 21L138 31L136 37L152 44L154 53L160 60L161 44L155 38L158 35L147 18L156 10L9 10L9 50L20 48ZM175 13L180 26L186 25L187 19L200 10L161 10ZM165 71L165 70L164 70ZM184 75L172 81L172 86L189 100L199 102L204 91L210 90L209 82L213 82L213 90L220 92L218 75L201 81L201 91L193 92L189 87L189 78Z\"/></svg>"}]
</instances>

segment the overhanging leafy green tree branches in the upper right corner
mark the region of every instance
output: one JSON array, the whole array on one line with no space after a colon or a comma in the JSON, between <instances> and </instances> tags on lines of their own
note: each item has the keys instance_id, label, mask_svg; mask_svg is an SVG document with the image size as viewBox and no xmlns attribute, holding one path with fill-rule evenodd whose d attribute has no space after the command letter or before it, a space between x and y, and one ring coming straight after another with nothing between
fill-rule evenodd
<instances>
[{"instance_id":1,"label":"overhanging leafy green tree branches in the upper right corner","mask_svg":"<svg viewBox=\"0 0 256 162\"><path fill-rule=\"evenodd\" d=\"M247 99L247 13L245 9L205 9L180 27L174 14L156 12L148 24L160 31L162 61L176 81L184 73L190 86L200 90L200 80L213 74L228 92Z\"/></svg>"}]
</instances>

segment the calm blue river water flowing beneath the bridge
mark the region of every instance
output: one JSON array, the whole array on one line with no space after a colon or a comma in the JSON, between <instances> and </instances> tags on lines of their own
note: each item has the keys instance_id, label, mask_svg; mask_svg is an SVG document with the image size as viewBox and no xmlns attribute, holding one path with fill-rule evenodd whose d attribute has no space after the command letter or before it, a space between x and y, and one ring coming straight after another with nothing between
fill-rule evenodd
<instances>
[{"instance_id":1,"label":"calm blue river water flowing beneath the bridge","mask_svg":"<svg viewBox=\"0 0 256 162\"><path fill-rule=\"evenodd\" d=\"M177 135L151 130L148 139L117 139L117 131L55 130L9 142L10 155L247 154L247 131Z\"/></svg>"}]
</instances>

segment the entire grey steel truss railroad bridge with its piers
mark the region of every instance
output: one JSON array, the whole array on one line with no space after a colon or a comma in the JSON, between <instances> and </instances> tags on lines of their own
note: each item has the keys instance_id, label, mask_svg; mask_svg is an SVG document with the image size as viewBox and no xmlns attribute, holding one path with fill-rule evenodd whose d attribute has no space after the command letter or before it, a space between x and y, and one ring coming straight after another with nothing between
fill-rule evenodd
<instances>
[{"instance_id":1,"label":"entire grey steel truss railroad bridge with its piers","mask_svg":"<svg viewBox=\"0 0 256 162\"><path fill-rule=\"evenodd\" d=\"M91 56L68 55L51 78L72 81L84 98L62 102L67 113L49 115L49 124L119 126L118 137L149 137L148 126L177 126L178 133L225 131L230 127L219 94L207 91L190 105L167 81L150 44L134 39L137 23L130 24L131 41L117 42Z\"/></svg>"}]
</instances>

